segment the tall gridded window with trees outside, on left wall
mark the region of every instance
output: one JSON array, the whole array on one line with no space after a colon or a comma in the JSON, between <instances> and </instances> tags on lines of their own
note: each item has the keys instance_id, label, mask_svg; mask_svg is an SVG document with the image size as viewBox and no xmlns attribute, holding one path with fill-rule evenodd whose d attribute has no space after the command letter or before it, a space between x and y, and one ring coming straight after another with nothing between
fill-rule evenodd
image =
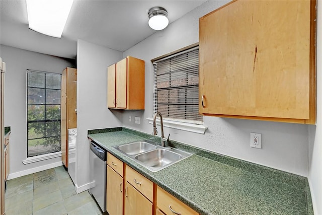
<instances>
[{"instance_id":1,"label":"tall gridded window with trees outside, on left wall","mask_svg":"<svg viewBox=\"0 0 322 215\"><path fill-rule=\"evenodd\" d=\"M60 80L27 70L27 157L60 151Z\"/></svg>"}]
</instances>

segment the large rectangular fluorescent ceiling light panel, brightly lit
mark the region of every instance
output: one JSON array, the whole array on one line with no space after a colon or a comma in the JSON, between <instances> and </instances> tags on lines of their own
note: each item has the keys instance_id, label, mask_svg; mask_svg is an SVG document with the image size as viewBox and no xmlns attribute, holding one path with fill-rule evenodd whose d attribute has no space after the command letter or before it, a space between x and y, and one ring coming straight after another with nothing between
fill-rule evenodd
<instances>
[{"instance_id":1,"label":"large rectangular fluorescent ceiling light panel, brightly lit","mask_svg":"<svg viewBox=\"0 0 322 215\"><path fill-rule=\"evenodd\" d=\"M61 37L73 0L26 0L29 28Z\"/></svg>"}]
</instances>

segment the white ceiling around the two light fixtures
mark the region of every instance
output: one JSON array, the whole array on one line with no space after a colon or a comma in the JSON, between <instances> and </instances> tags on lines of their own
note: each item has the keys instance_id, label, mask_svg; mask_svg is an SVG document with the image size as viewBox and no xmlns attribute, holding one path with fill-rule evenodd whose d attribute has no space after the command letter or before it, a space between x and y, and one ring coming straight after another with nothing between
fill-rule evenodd
<instances>
[{"instance_id":1,"label":"white ceiling around the two light fixtures","mask_svg":"<svg viewBox=\"0 0 322 215\"><path fill-rule=\"evenodd\" d=\"M164 7L172 23L206 1L74 0L61 38L28 28L25 0L1 0L1 44L75 58L77 39L125 51L155 33L148 10Z\"/></svg>"}]
</instances>

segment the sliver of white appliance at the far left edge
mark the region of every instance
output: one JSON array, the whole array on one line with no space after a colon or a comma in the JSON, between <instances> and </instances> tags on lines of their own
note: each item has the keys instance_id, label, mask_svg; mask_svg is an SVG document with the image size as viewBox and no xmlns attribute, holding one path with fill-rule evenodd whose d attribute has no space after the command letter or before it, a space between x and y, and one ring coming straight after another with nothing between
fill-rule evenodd
<instances>
[{"instance_id":1,"label":"sliver of white appliance at the far left edge","mask_svg":"<svg viewBox=\"0 0 322 215\"><path fill-rule=\"evenodd\" d=\"M5 214L5 73L6 63L0 57L0 214Z\"/></svg>"}]
</instances>

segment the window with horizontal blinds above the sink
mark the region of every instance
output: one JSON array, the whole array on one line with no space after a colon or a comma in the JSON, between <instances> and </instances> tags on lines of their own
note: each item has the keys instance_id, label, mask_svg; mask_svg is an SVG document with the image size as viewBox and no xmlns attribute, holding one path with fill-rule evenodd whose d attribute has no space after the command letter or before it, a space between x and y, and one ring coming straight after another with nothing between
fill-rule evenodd
<instances>
[{"instance_id":1,"label":"window with horizontal blinds above the sink","mask_svg":"<svg viewBox=\"0 0 322 215\"><path fill-rule=\"evenodd\" d=\"M164 118L202 124L199 115L199 49L182 51L153 62L154 113Z\"/></svg>"}]
</instances>

